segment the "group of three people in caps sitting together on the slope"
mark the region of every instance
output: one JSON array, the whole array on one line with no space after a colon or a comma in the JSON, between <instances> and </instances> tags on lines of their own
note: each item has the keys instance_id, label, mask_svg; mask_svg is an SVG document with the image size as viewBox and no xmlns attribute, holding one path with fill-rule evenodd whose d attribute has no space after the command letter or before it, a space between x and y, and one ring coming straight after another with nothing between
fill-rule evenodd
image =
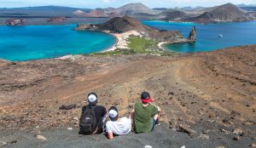
<instances>
[{"instance_id":1,"label":"group of three people in caps sitting together on the slope","mask_svg":"<svg viewBox=\"0 0 256 148\"><path fill-rule=\"evenodd\" d=\"M79 119L79 134L100 134L105 131L108 139L113 139L114 135L129 134L131 129L136 133L147 133L154 129L160 118L161 109L150 103L152 99L148 92L141 94L142 102L135 104L130 117L119 118L119 111L114 106L107 113L105 107L96 105L95 93L88 94L87 100L89 105L83 106Z\"/></svg>"}]
</instances>

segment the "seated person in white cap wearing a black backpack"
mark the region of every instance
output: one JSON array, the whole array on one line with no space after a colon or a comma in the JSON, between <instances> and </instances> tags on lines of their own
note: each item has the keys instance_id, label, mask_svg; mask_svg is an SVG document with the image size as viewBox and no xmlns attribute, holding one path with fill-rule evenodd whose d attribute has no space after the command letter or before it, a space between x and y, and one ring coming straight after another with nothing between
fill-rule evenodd
<instances>
[{"instance_id":1,"label":"seated person in white cap wearing a black backpack","mask_svg":"<svg viewBox=\"0 0 256 148\"><path fill-rule=\"evenodd\" d=\"M106 108L97 104L97 94L90 93L87 96L89 105L82 107L79 119L79 134L101 134L107 122Z\"/></svg>"}]
</instances>

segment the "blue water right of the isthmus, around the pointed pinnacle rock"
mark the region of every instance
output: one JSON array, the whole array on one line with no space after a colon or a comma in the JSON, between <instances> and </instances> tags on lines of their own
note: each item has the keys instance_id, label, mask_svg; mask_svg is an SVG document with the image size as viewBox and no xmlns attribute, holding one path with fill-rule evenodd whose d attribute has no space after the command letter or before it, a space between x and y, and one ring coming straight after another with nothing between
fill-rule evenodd
<instances>
[{"instance_id":1,"label":"blue water right of the isthmus, around the pointed pinnacle rock","mask_svg":"<svg viewBox=\"0 0 256 148\"><path fill-rule=\"evenodd\" d=\"M197 29L195 43L165 44L166 49L179 53L211 51L239 45L256 44L256 21L201 25L163 21L143 21L143 24L163 30L178 30L184 37L189 36L193 26ZM218 37L222 34L223 37Z\"/></svg>"}]
</instances>

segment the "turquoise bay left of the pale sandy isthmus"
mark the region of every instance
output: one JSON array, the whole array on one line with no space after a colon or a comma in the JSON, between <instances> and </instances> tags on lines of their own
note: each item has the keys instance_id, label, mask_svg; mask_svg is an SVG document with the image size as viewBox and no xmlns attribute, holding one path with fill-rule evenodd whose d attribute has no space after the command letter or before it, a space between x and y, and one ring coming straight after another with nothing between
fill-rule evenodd
<instances>
[{"instance_id":1,"label":"turquoise bay left of the pale sandy isthmus","mask_svg":"<svg viewBox=\"0 0 256 148\"><path fill-rule=\"evenodd\" d=\"M67 26L0 26L0 59L37 60L90 54L111 48L116 38Z\"/></svg>"}]
</instances>

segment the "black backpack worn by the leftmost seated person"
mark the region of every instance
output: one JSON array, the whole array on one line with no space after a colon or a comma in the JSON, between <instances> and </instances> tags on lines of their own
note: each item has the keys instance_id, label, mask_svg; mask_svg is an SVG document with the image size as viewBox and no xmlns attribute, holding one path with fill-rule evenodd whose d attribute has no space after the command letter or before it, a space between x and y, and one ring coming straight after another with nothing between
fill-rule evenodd
<instances>
[{"instance_id":1,"label":"black backpack worn by the leftmost seated person","mask_svg":"<svg viewBox=\"0 0 256 148\"><path fill-rule=\"evenodd\" d=\"M79 119L79 134L96 134L98 123L94 109L96 106L87 106Z\"/></svg>"}]
</instances>

